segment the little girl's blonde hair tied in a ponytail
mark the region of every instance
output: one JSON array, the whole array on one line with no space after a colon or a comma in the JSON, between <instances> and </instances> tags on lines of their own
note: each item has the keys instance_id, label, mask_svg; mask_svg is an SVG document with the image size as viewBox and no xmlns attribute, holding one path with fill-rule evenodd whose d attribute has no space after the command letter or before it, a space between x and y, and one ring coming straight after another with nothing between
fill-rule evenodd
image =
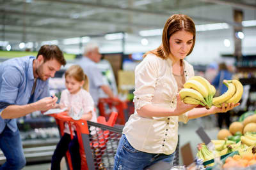
<instances>
[{"instance_id":1,"label":"little girl's blonde hair tied in a ponytail","mask_svg":"<svg viewBox=\"0 0 256 170\"><path fill-rule=\"evenodd\" d=\"M89 91L89 79L86 74L84 74L83 69L79 65L72 65L70 66L66 73L65 78L67 76L72 76L76 81L84 81L83 89Z\"/></svg>"}]
</instances>

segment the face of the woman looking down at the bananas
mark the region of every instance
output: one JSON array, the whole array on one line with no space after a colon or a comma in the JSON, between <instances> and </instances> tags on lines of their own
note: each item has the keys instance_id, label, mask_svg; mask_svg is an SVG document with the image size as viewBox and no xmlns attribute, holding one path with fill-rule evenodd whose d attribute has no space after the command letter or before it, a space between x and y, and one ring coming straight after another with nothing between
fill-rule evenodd
<instances>
[{"instance_id":1,"label":"face of the woman looking down at the bananas","mask_svg":"<svg viewBox=\"0 0 256 170\"><path fill-rule=\"evenodd\" d=\"M193 34L188 31L177 31L169 39L171 57L174 60L185 59L193 45Z\"/></svg>"}]
</instances>

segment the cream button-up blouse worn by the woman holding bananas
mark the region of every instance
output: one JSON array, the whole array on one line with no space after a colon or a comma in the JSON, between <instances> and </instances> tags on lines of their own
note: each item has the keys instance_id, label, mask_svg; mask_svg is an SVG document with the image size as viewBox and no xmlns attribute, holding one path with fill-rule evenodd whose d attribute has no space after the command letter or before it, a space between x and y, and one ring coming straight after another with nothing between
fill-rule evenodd
<instances>
[{"instance_id":1,"label":"cream button-up blouse worn by the woman holding bananas","mask_svg":"<svg viewBox=\"0 0 256 170\"><path fill-rule=\"evenodd\" d=\"M191 64L183 60L187 81L194 76ZM135 69L134 114L126 122L123 133L136 149L148 153L175 152L178 141L178 122L188 122L188 112L180 116L141 117L136 110L146 104L161 108L176 107L177 82L172 74L172 60L148 54Z\"/></svg>"}]
</instances>

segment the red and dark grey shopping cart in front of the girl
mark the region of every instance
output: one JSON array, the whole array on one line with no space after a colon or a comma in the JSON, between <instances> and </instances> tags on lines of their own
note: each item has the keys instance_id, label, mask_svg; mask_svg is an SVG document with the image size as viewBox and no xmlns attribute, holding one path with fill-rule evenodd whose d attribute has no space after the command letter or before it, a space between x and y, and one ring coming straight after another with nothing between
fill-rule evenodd
<instances>
[{"instance_id":1,"label":"red and dark grey shopping cart in front of the girl","mask_svg":"<svg viewBox=\"0 0 256 170\"><path fill-rule=\"evenodd\" d=\"M72 120L67 113L52 115L63 133L64 122L74 123L77 129L81 153L81 169L113 169L114 157L118 142L122 136L122 128L112 127L115 124L117 113L111 113L108 122L104 117L98 118L98 123ZM101 124L100 122L103 122ZM71 159L67 152L68 169L72 170ZM173 166L179 165L179 141L175 150Z\"/></svg>"}]
</instances>

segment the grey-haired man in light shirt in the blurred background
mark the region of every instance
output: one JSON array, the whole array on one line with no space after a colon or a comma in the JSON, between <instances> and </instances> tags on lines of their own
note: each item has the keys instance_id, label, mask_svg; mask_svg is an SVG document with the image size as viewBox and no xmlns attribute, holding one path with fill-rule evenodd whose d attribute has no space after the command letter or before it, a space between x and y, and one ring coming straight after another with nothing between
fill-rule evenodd
<instances>
[{"instance_id":1,"label":"grey-haired man in light shirt in the blurred background","mask_svg":"<svg viewBox=\"0 0 256 170\"><path fill-rule=\"evenodd\" d=\"M96 43L90 43L85 46L83 58L79 60L79 65L83 68L84 73L89 78L89 91L93 97L93 101L97 105L99 103L99 89L102 89L110 98L114 98L112 90L108 85L104 84L102 73L97 67L101 54L99 46Z\"/></svg>"}]
</instances>

